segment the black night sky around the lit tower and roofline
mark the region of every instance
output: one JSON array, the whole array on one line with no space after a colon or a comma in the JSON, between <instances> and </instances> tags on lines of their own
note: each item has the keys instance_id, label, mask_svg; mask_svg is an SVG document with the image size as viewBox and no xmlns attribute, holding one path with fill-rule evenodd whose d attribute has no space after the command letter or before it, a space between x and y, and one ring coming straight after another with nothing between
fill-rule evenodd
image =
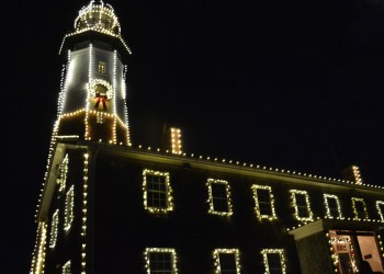
<instances>
[{"instance_id":1,"label":"black night sky around the lit tower and roofline","mask_svg":"<svg viewBox=\"0 0 384 274\"><path fill-rule=\"evenodd\" d=\"M3 84L16 99L9 101L13 152L2 193L7 273L30 267L56 118L58 49L88 3L13 1L2 15ZM167 124L182 129L189 155L330 178L357 164L365 183L384 185L383 1L108 3L133 52L134 146L159 146Z\"/></svg>"}]
</instances>

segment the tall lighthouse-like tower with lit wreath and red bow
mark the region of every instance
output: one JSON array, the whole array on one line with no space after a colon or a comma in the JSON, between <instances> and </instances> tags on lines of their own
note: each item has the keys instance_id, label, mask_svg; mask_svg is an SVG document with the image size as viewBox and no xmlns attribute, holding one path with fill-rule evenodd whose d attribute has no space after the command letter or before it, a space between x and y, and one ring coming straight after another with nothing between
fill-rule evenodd
<instances>
[{"instance_id":1,"label":"tall lighthouse-like tower with lit wreath and red bow","mask_svg":"<svg viewBox=\"0 0 384 274\"><path fill-rule=\"evenodd\" d=\"M102 0L83 7L59 54L65 66L54 135L129 146L124 60L131 50L113 8Z\"/></svg>"}]
</instances>

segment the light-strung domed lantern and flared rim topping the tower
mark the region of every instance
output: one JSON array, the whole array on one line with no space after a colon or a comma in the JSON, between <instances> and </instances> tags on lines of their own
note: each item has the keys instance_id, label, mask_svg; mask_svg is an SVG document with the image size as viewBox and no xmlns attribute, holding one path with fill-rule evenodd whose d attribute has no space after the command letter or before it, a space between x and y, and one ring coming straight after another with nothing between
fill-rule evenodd
<instances>
[{"instance_id":1,"label":"light-strung domed lantern and flared rim topping the tower","mask_svg":"<svg viewBox=\"0 0 384 274\"><path fill-rule=\"evenodd\" d=\"M79 37L84 36L82 34L90 33L106 35L112 39L117 39L117 44L121 44L131 54L129 47L121 36L120 22L112 5L104 3L102 0L91 0L88 5L82 7L74 26L74 32L64 37L59 54L65 47L70 47L70 45L78 42Z\"/></svg>"}]
</instances>

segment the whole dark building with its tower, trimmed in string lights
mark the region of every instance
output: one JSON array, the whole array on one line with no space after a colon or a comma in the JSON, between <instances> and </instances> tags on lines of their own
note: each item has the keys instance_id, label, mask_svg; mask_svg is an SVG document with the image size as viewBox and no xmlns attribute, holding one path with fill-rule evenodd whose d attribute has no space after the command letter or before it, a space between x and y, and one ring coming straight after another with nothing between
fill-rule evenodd
<instances>
[{"instance_id":1,"label":"whole dark building with its tower, trimmed in string lights","mask_svg":"<svg viewBox=\"0 0 384 274\"><path fill-rule=\"evenodd\" d=\"M91 1L66 57L31 274L383 271L384 190L131 144L126 60L110 4Z\"/></svg>"}]
</instances>

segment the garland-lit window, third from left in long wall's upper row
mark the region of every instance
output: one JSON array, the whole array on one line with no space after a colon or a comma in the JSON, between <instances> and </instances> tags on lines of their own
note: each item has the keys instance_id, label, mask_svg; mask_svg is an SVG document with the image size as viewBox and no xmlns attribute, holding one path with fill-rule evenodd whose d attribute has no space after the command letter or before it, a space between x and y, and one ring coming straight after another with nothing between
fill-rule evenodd
<instances>
[{"instance_id":1,"label":"garland-lit window, third from left in long wall's upper row","mask_svg":"<svg viewBox=\"0 0 384 274\"><path fill-rule=\"evenodd\" d=\"M271 186L266 185L252 185L255 210L259 219L276 219L274 213L274 199Z\"/></svg>"}]
</instances>

